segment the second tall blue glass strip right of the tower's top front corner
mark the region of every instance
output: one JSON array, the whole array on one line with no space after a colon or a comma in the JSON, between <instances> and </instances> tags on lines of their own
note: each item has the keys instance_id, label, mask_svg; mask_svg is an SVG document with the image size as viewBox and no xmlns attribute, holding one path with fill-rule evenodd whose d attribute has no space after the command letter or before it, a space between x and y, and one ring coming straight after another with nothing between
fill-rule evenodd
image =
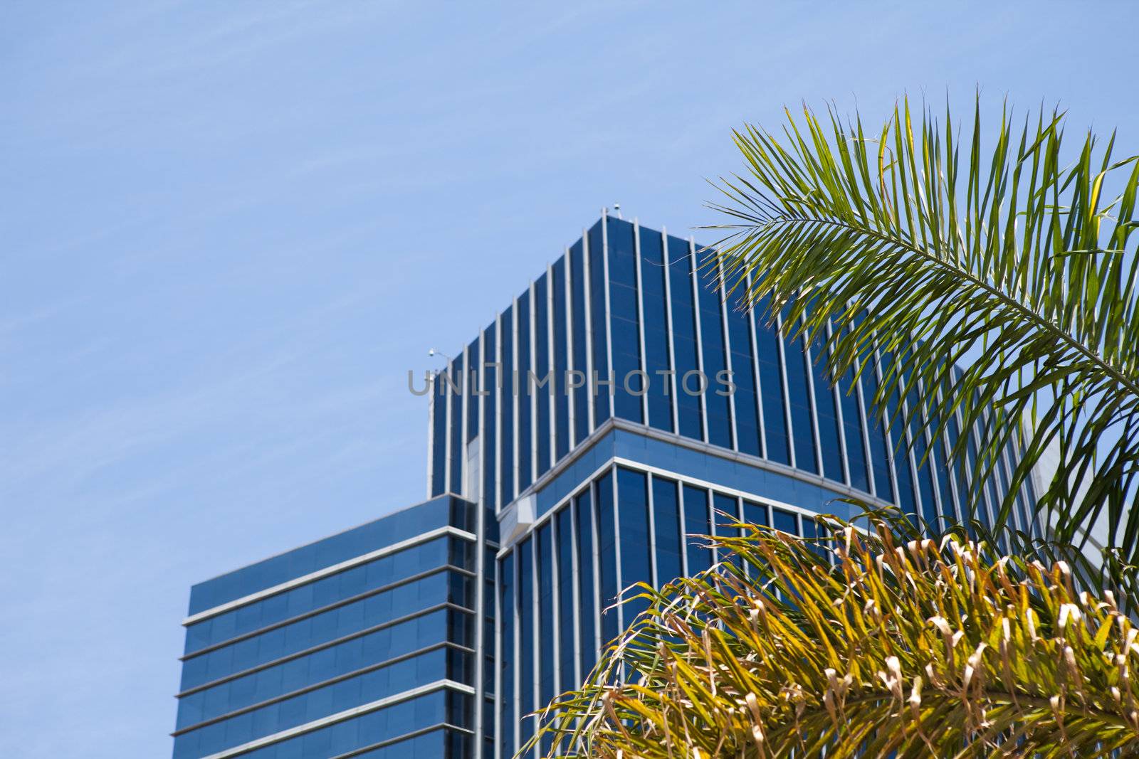
<instances>
[{"instance_id":1,"label":"second tall blue glass strip right of the tower's top front corner","mask_svg":"<svg viewBox=\"0 0 1139 759\"><path fill-rule=\"evenodd\" d=\"M640 231L641 304L645 310L645 371L648 373L648 423L671 432L672 387L669 310L665 299L667 269L659 232Z\"/></svg>"}]
</instances>

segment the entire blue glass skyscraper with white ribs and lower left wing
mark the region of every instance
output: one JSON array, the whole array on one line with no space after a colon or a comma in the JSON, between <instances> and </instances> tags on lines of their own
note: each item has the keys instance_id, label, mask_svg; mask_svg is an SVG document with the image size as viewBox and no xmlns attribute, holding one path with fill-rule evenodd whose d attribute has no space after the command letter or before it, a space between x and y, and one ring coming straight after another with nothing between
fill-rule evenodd
<instances>
[{"instance_id":1,"label":"entire blue glass skyscraper with white ribs and lower left wing","mask_svg":"<svg viewBox=\"0 0 1139 759\"><path fill-rule=\"evenodd\" d=\"M427 502L195 586L175 759L506 759L632 619L621 588L711 566L693 536L810 536L846 495L953 515L972 431L871 418L877 374L831 383L713 279L603 214L435 378Z\"/></svg>"}]
</instances>

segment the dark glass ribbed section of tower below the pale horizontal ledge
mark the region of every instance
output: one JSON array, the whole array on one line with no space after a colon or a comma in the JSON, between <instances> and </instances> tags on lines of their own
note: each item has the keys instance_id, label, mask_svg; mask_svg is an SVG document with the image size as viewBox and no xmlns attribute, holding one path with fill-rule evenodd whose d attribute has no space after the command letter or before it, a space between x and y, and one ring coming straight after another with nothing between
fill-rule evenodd
<instances>
[{"instance_id":1,"label":"dark glass ribbed section of tower below the pale horizontal ledge","mask_svg":"<svg viewBox=\"0 0 1139 759\"><path fill-rule=\"evenodd\" d=\"M614 607L623 588L707 569L720 556L704 536L737 522L813 537L816 515L628 459L603 464L499 553L495 756L525 745L538 727L532 712L581 684L603 646L645 609L644 601ZM540 748L544 756L549 744Z\"/></svg>"}]
</instances>

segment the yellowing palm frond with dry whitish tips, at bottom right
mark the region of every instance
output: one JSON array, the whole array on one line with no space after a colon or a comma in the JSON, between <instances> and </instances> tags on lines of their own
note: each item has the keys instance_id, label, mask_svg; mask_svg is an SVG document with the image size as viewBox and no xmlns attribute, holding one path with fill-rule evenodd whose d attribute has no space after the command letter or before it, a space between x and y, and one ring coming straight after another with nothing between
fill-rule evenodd
<instances>
[{"instance_id":1,"label":"yellowing palm frond with dry whitish tips, at bottom right","mask_svg":"<svg viewBox=\"0 0 1139 759\"><path fill-rule=\"evenodd\" d=\"M1139 752L1139 629L1064 563L740 525L543 713L551 756L1100 757ZM907 521L907 525L909 522ZM901 541L894 529L901 529Z\"/></svg>"}]
</instances>

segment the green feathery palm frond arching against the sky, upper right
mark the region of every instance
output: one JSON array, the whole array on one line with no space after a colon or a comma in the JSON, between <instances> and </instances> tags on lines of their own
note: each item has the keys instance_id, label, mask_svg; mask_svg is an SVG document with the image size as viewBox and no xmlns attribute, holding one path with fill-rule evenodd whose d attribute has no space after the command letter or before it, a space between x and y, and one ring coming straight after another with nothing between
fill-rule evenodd
<instances>
[{"instance_id":1,"label":"green feathery palm frond arching against the sky, upper right","mask_svg":"<svg viewBox=\"0 0 1139 759\"><path fill-rule=\"evenodd\" d=\"M1060 113L1015 125L1006 108L988 147L980 105L966 137L948 106L943 125L919 116L904 101L867 133L804 109L781 134L737 132L748 173L721 183L714 263L749 305L827 340L834 377L891 356L875 405L921 390L898 423L980 430L970 506L1015 451L998 526L1054 459L1038 508L1056 537L1101 520L1139 563L1139 157L1116 160L1114 135L1070 146Z\"/></svg>"}]
</instances>

